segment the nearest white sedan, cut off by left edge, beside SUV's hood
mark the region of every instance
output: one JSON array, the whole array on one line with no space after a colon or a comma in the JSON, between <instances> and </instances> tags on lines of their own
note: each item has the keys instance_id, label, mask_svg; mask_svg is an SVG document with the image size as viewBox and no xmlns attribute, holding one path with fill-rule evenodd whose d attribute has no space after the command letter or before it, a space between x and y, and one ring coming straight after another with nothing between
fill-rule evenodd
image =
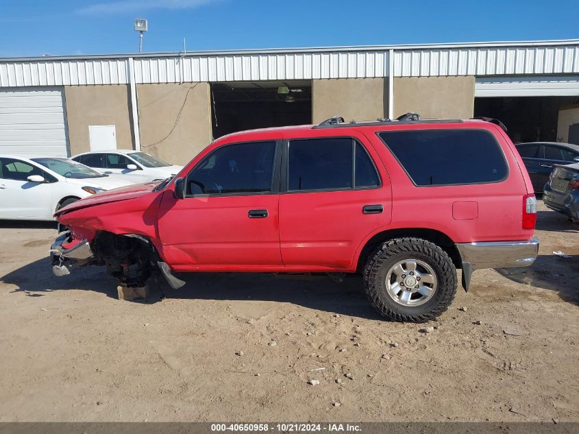
<instances>
[{"instance_id":1,"label":"nearest white sedan, cut off by left edge, beside SUV's hood","mask_svg":"<svg viewBox=\"0 0 579 434\"><path fill-rule=\"evenodd\" d=\"M66 158L0 155L0 219L52 220L75 200L132 183Z\"/></svg>"}]
</instances>

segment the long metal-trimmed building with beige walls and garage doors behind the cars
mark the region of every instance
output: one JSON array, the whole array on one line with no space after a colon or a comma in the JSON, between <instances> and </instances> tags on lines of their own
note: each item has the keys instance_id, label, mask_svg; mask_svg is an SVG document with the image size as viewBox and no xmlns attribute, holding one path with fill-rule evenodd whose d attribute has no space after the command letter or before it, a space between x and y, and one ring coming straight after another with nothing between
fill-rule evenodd
<instances>
[{"instance_id":1,"label":"long metal-trimmed building with beige walls and garage doors behind the cars","mask_svg":"<svg viewBox=\"0 0 579 434\"><path fill-rule=\"evenodd\" d=\"M0 152L192 158L235 130L497 117L514 141L579 124L579 40L0 58Z\"/></svg>"}]
</instances>

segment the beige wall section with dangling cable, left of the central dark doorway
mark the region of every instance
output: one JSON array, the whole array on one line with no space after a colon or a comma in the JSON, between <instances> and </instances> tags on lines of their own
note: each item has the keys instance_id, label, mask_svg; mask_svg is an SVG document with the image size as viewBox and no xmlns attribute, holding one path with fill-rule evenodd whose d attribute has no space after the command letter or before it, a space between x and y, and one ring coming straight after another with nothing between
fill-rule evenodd
<instances>
[{"instance_id":1,"label":"beige wall section with dangling cable, left of the central dark doorway","mask_svg":"<svg viewBox=\"0 0 579 434\"><path fill-rule=\"evenodd\" d=\"M210 143L208 83L139 84L137 98L143 151L172 164L184 165ZM151 145L158 141L161 142Z\"/></svg>"}]
</instances>

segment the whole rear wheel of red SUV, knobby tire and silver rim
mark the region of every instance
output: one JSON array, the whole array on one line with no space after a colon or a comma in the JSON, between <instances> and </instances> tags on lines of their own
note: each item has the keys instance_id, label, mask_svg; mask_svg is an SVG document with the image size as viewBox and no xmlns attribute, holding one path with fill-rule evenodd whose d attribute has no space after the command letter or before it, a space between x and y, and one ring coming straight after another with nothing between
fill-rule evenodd
<instances>
[{"instance_id":1,"label":"whole rear wheel of red SUV, knobby tire and silver rim","mask_svg":"<svg viewBox=\"0 0 579 434\"><path fill-rule=\"evenodd\" d=\"M452 303L456 268L430 241L393 239L369 256L364 287L374 308L388 320L426 322Z\"/></svg>"}]
</instances>

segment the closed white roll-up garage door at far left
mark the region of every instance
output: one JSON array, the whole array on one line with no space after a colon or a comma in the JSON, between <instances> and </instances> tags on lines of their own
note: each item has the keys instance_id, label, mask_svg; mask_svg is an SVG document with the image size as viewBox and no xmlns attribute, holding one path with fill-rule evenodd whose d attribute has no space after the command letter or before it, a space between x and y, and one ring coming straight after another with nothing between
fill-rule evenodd
<instances>
[{"instance_id":1,"label":"closed white roll-up garage door at far left","mask_svg":"<svg viewBox=\"0 0 579 434\"><path fill-rule=\"evenodd\" d=\"M68 155L63 89L0 89L0 154Z\"/></svg>"}]
</instances>

